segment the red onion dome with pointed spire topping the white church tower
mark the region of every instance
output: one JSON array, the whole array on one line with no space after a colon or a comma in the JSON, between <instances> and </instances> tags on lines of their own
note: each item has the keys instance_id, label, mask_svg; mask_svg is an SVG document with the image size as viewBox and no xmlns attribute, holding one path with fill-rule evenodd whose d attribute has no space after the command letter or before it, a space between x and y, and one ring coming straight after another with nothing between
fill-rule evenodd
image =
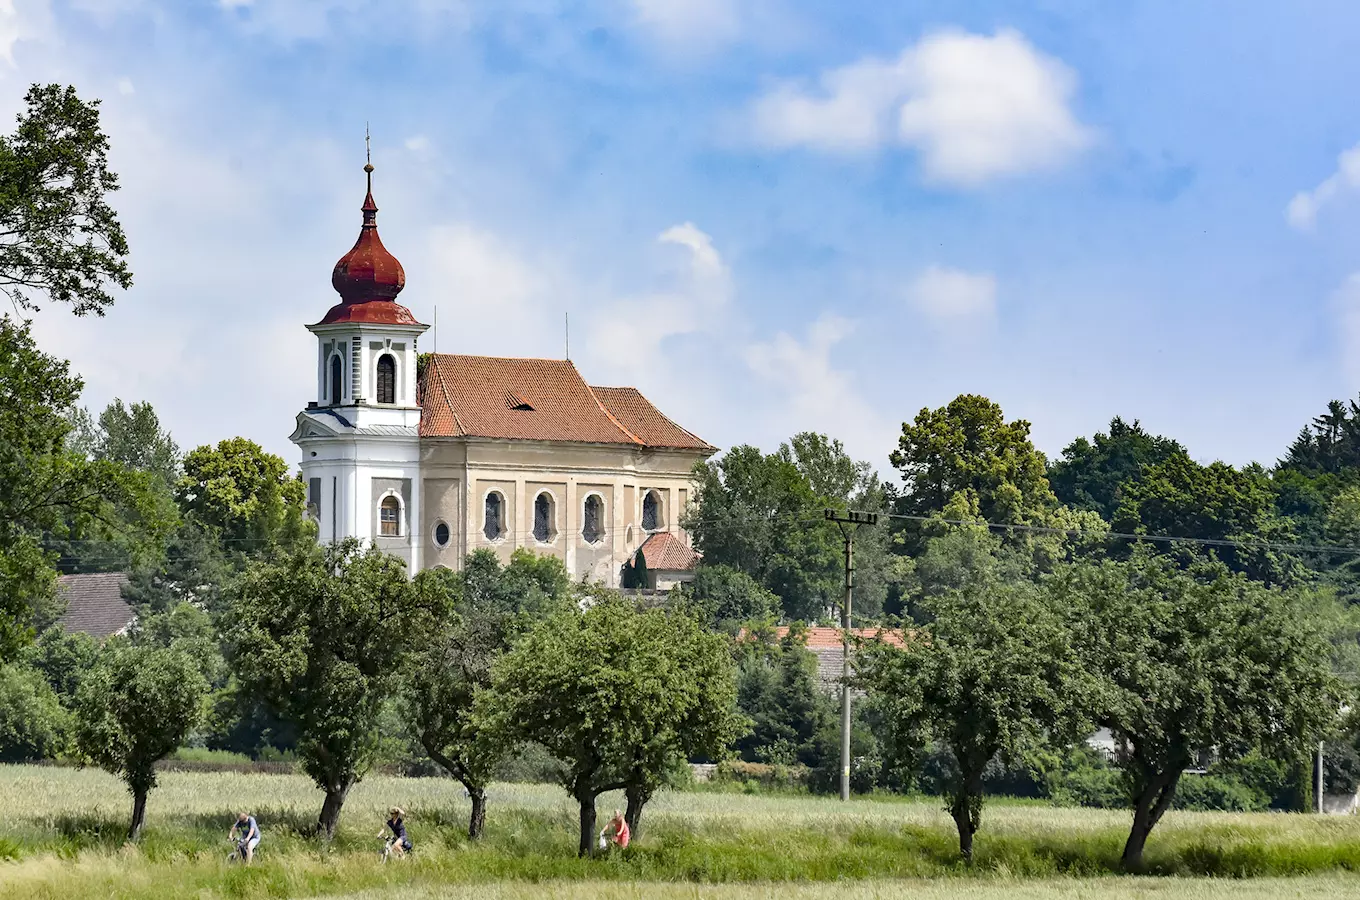
<instances>
[{"instance_id":1,"label":"red onion dome with pointed spire topping the white church tower","mask_svg":"<svg viewBox=\"0 0 1360 900\"><path fill-rule=\"evenodd\" d=\"M419 325L411 310L396 302L407 285L407 273L397 257L388 253L378 237L378 204L373 201L373 163L363 171L369 177L369 193L363 198L363 227L350 253L340 257L330 285L340 295L320 325L339 322L371 322L379 325Z\"/></svg>"}]
</instances>

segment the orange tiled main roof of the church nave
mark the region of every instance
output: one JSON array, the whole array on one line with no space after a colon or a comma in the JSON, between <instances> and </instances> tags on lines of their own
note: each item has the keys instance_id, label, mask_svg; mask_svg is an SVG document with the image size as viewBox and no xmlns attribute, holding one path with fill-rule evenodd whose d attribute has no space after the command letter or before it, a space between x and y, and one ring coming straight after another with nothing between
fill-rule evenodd
<instances>
[{"instance_id":1,"label":"orange tiled main roof of the church nave","mask_svg":"<svg viewBox=\"0 0 1360 900\"><path fill-rule=\"evenodd\" d=\"M598 396L566 359L432 353L420 375L420 435L427 438L717 450L631 387Z\"/></svg>"}]
</instances>

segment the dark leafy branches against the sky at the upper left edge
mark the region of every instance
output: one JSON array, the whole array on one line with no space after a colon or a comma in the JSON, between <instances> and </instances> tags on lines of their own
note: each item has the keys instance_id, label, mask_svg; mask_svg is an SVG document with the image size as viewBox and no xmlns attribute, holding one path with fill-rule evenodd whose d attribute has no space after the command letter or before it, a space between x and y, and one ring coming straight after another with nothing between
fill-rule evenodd
<instances>
[{"instance_id":1,"label":"dark leafy branches against the sky at the upper left edge","mask_svg":"<svg viewBox=\"0 0 1360 900\"><path fill-rule=\"evenodd\" d=\"M12 135L0 136L0 291L16 309L37 295L69 303L76 315L103 315L109 285L126 290L128 242L106 196L109 139L99 101L73 87L29 88Z\"/></svg>"}]
</instances>

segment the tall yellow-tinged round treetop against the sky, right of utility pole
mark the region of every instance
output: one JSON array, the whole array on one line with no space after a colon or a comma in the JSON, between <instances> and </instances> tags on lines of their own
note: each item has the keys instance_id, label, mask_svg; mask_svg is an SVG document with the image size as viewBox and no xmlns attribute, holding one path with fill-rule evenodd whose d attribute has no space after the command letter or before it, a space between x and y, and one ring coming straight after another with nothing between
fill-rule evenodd
<instances>
[{"instance_id":1,"label":"tall yellow-tinged round treetop against the sky, right of utility pole","mask_svg":"<svg viewBox=\"0 0 1360 900\"><path fill-rule=\"evenodd\" d=\"M1030 442L1030 423L1006 421L1001 406L976 394L903 423L889 458L902 472L902 500L911 515L937 514L968 492L987 522L1025 525L1042 522L1058 503L1043 454Z\"/></svg>"}]
</instances>

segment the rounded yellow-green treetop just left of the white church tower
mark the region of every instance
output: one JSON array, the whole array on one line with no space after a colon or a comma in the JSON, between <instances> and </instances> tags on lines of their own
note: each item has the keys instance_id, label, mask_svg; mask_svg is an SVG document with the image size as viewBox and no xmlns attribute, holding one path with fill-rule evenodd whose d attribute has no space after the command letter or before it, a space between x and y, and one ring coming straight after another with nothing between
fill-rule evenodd
<instances>
[{"instance_id":1,"label":"rounded yellow-green treetop just left of the white church tower","mask_svg":"<svg viewBox=\"0 0 1360 900\"><path fill-rule=\"evenodd\" d=\"M286 541L302 527L302 483L288 477L287 462L246 438L190 450L175 499L235 552Z\"/></svg>"}]
</instances>

